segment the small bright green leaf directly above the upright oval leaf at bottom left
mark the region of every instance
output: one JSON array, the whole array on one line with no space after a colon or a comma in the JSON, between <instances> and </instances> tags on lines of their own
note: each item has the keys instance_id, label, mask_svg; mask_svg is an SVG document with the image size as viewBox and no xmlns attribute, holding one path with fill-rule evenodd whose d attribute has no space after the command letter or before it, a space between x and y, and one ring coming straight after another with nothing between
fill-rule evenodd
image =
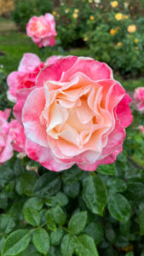
<instances>
[{"instance_id":1,"label":"small bright green leaf directly above the upright oval leaf at bottom left","mask_svg":"<svg viewBox=\"0 0 144 256\"><path fill-rule=\"evenodd\" d=\"M32 226L38 226L40 224L40 215L34 208L24 209L24 218L28 224Z\"/></svg>"}]
</instances>

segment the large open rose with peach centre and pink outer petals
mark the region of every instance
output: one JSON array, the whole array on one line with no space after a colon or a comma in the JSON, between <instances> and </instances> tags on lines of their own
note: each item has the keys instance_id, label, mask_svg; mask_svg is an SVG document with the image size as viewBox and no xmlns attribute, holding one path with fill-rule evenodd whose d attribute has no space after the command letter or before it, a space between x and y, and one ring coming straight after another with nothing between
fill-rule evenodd
<instances>
[{"instance_id":1,"label":"large open rose with peach centre and pink outer petals","mask_svg":"<svg viewBox=\"0 0 144 256\"><path fill-rule=\"evenodd\" d=\"M19 90L14 116L24 125L26 152L51 171L95 171L122 151L132 115L130 96L105 63L68 56L44 67L35 87Z\"/></svg>"}]
</instances>

